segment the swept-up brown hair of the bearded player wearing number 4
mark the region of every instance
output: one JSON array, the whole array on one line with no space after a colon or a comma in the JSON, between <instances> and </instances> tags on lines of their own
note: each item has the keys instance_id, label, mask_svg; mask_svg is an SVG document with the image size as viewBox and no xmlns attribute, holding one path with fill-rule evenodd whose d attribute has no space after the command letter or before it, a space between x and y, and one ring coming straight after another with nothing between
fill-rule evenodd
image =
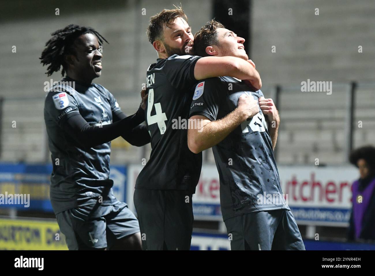
<instances>
[{"instance_id":1,"label":"swept-up brown hair of the bearded player wearing number 4","mask_svg":"<svg viewBox=\"0 0 375 276\"><path fill-rule=\"evenodd\" d=\"M147 27L148 41L153 44L157 39L163 40L163 28L170 25L170 21L176 17L181 17L187 22L187 16L180 6L175 9L163 9L156 15L150 17L150 24Z\"/></svg>"}]
</instances>

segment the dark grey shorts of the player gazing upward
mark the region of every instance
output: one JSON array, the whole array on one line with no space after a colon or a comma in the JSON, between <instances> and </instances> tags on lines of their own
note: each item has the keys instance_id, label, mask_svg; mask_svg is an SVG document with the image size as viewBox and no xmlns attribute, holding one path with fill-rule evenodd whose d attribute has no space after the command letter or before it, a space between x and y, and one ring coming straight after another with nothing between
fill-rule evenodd
<instances>
[{"instance_id":1,"label":"dark grey shorts of the player gazing upward","mask_svg":"<svg viewBox=\"0 0 375 276\"><path fill-rule=\"evenodd\" d=\"M305 250L290 210L260 211L224 221L231 250Z\"/></svg>"}]
</instances>

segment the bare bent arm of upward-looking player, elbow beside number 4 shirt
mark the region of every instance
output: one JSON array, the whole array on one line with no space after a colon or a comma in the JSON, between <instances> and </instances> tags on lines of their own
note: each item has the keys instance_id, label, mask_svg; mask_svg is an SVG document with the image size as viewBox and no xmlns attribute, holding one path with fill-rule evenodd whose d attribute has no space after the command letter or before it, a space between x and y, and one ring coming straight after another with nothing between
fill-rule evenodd
<instances>
[{"instance_id":1,"label":"bare bent arm of upward-looking player, elbow beside number 4 shirt","mask_svg":"<svg viewBox=\"0 0 375 276\"><path fill-rule=\"evenodd\" d=\"M202 115L190 117L189 120L199 121L199 128L190 128L187 131L187 145L190 151L199 153L217 145L242 122L258 112L257 101L253 97L243 94L239 98L237 108L220 120L210 121L206 116Z\"/></svg>"}]
</instances>

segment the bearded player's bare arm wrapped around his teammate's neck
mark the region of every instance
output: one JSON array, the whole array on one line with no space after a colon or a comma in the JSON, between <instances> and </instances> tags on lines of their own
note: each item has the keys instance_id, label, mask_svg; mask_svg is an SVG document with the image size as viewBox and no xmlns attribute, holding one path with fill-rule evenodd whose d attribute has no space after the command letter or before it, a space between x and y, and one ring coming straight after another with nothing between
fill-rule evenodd
<instances>
[{"instance_id":1,"label":"bearded player's bare arm wrapped around his teammate's neck","mask_svg":"<svg viewBox=\"0 0 375 276\"><path fill-rule=\"evenodd\" d=\"M224 76L249 80L257 89L262 87L262 81L254 63L239 57L202 57L195 63L194 77L196 80Z\"/></svg>"}]
</instances>

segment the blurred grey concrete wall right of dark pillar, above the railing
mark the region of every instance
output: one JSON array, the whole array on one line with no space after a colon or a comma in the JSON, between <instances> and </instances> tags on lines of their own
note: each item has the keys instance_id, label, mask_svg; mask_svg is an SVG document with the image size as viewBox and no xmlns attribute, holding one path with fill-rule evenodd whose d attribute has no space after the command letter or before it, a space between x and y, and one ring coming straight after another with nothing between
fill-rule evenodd
<instances>
[{"instance_id":1,"label":"blurred grey concrete wall right of dark pillar, above the railing","mask_svg":"<svg viewBox=\"0 0 375 276\"><path fill-rule=\"evenodd\" d=\"M374 80L374 0L254 0L252 16L251 58L264 84Z\"/></svg>"}]
</instances>

